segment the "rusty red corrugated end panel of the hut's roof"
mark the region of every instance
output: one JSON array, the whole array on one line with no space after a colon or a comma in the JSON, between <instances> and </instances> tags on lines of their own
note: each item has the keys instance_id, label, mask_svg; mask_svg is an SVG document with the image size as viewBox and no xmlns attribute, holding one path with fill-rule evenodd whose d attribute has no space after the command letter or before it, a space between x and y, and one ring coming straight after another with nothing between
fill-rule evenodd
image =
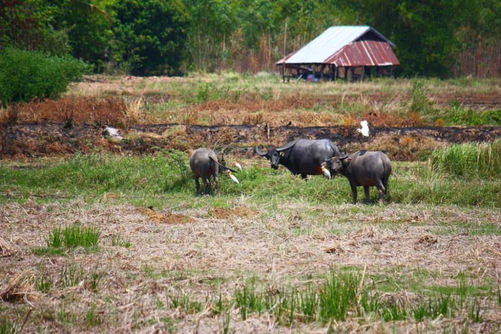
<instances>
[{"instance_id":1,"label":"rusty red corrugated end panel of the hut's roof","mask_svg":"<svg viewBox=\"0 0 501 334\"><path fill-rule=\"evenodd\" d=\"M357 41L350 43L329 57L325 63L336 66L387 66L399 65L397 57L387 42Z\"/></svg>"}]
</instances>

